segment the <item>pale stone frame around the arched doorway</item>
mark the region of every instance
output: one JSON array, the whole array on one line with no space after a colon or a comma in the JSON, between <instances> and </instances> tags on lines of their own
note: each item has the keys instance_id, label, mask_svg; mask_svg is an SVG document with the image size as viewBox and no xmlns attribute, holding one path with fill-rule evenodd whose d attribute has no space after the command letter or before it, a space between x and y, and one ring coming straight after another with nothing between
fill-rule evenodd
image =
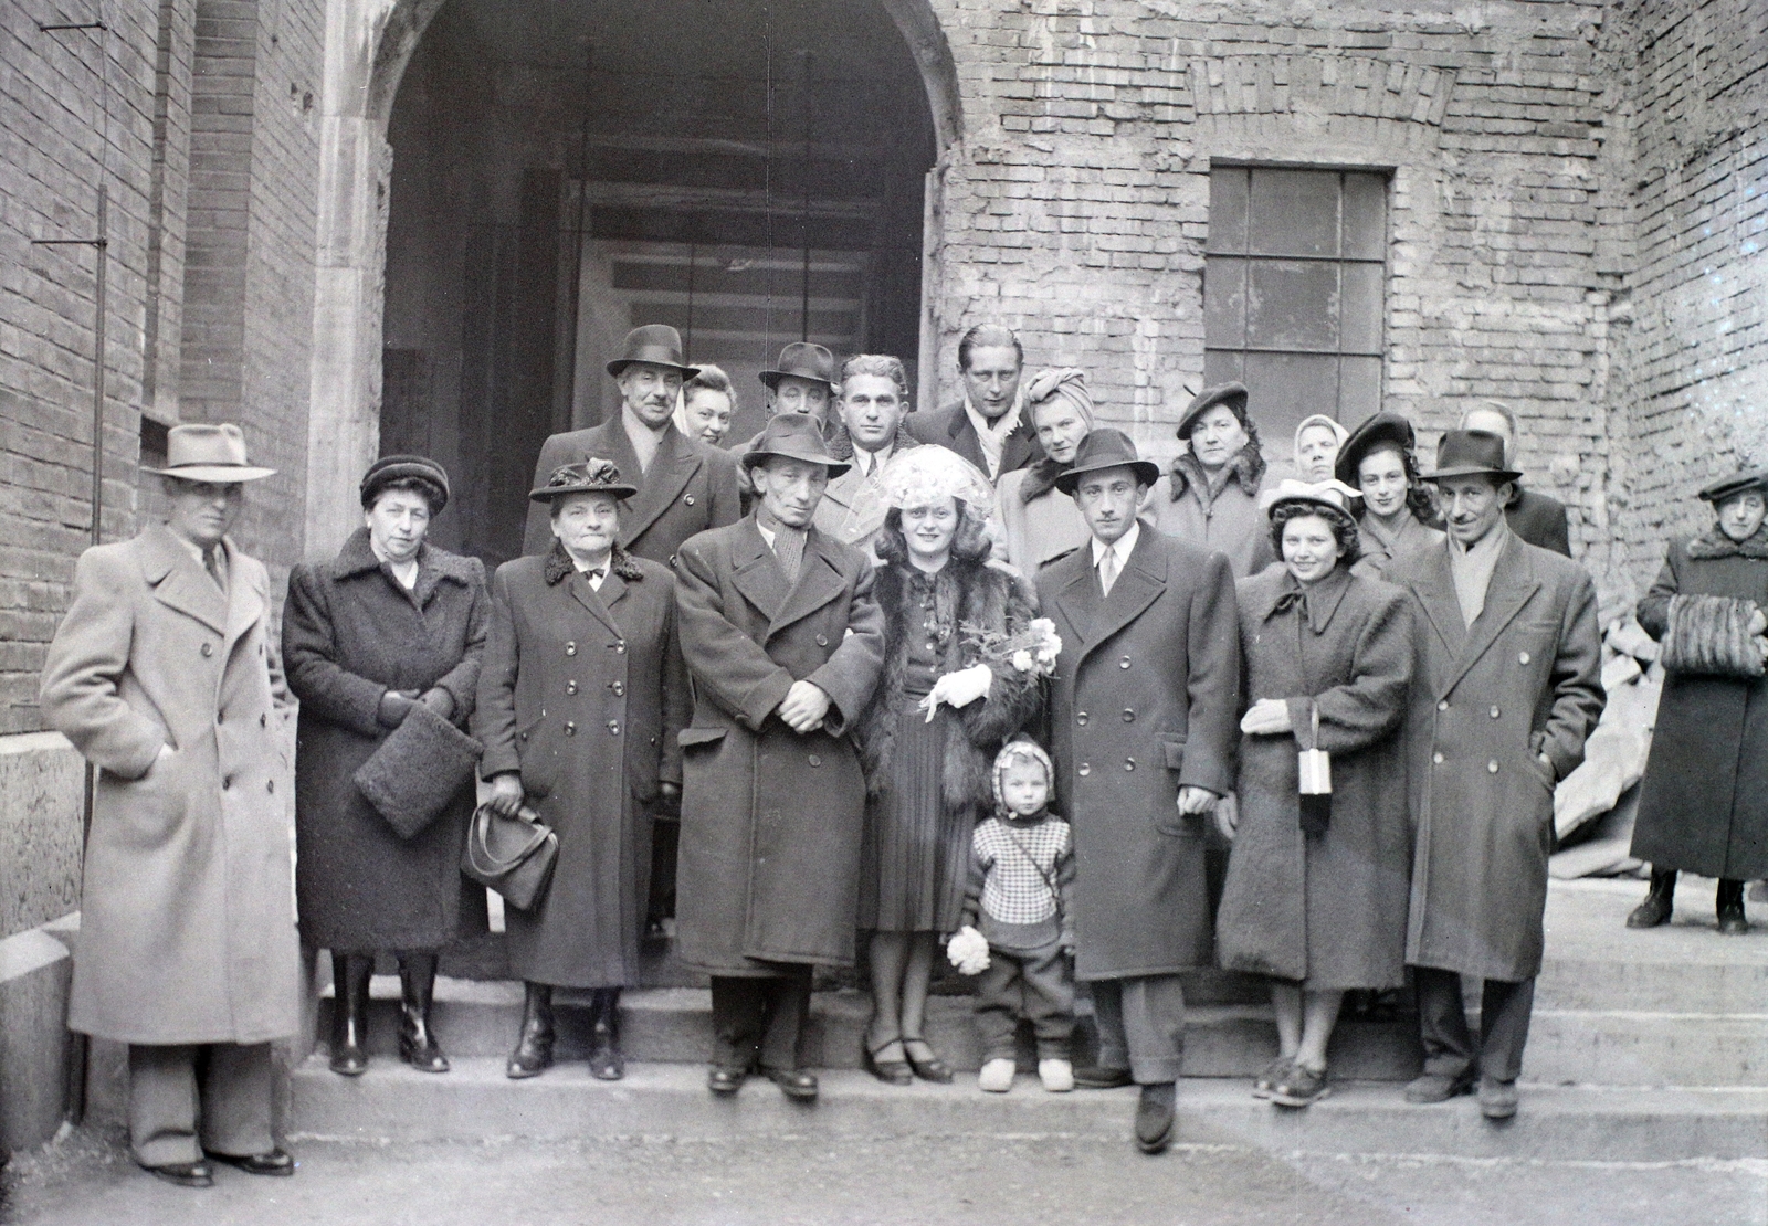
<instances>
[{"instance_id":1,"label":"pale stone frame around the arched doorway","mask_svg":"<svg viewBox=\"0 0 1768 1226\"><path fill-rule=\"evenodd\" d=\"M357 525L355 486L380 450L380 350L387 276L387 118L405 65L446 0L331 0L320 115L320 203L308 399L304 549ZM877 0L921 71L937 155L921 235L921 396L934 387L944 171L964 140L956 64L932 0Z\"/></svg>"}]
</instances>

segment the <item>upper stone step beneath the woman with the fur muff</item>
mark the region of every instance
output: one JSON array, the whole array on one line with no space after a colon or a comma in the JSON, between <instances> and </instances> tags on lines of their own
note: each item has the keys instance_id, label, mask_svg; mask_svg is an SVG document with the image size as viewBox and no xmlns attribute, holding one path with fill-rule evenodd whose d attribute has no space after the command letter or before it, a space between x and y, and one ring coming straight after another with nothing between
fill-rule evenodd
<instances>
[{"instance_id":1,"label":"upper stone step beneath the woman with the fur muff","mask_svg":"<svg viewBox=\"0 0 1768 1226\"><path fill-rule=\"evenodd\" d=\"M1718 936L1711 880L1685 878L1669 924L1628 929L1641 897L1641 882L1552 883L1536 1009L1768 1014L1768 926Z\"/></svg>"}]
</instances>

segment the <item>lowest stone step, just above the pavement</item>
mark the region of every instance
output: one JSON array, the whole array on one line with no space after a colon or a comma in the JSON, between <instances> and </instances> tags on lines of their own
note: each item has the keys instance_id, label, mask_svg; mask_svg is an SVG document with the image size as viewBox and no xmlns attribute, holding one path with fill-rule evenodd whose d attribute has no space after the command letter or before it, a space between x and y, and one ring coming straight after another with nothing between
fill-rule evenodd
<instances>
[{"instance_id":1,"label":"lowest stone step, just above the pavement","mask_svg":"<svg viewBox=\"0 0 1768 1226\"><path fill-rule=\"evenodd\" d=\"M463 1058L447 1074L378 1060L362 1078L339 1078L322 1056L293 1072L290 1134L424 1143L502 1138L573 1139L732 1134L778 1136L806 1154L831 1141L880 1136L1124 1138L1135 1090L1045 1094L1020 1078L994 1095L971 1078L949 1086L886 1086L863 1072L822 1074L815 1106L789 1102L766 1081L732 1099L705 1090L704 1063L633 1063L624 1081L594 1081L580 1063L509 1081L499 1058ZM1768 1092L1632 1090L1524 1085L1506 1125L1480 1118L1473 1099L1409 1106L1398 1086L1342 1083L1307 1111L1252 1099L1245 1079L1186 1079L1179 1086L1181 1143L1254 1143L1282 1154L1540 1157L1602 1162L1768 1159Z\"/></svg>"}]
</instances>

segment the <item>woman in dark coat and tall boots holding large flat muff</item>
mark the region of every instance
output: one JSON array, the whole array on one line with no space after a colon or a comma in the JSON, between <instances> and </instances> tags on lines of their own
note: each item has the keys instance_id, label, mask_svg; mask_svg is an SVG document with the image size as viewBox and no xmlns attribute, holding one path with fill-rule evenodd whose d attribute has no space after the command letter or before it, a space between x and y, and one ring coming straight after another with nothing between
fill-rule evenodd
<instances>
[{"instance_id":1,"label":"woman in dark coat and tall boots holding large flat muff","mask_svg":"<svg viewBox=\"0 0 1768 1226\"><path fill-rule=\"evenodd\" d=\"M400 1056L447 1071L430 1000L437 949L460 924L472 777L410 837L355 786L355 772L414 705L456 726L472 715L490 599L477 558L424 542L447 496L435 461L378 459L362 477L362 530L331 562L288 576L283 661L301 700L295 889L302 940L332 950L331 1067L345 1076L368 1067L368 980L382 949L400 959Z\"/></svg>"}]
</instances>

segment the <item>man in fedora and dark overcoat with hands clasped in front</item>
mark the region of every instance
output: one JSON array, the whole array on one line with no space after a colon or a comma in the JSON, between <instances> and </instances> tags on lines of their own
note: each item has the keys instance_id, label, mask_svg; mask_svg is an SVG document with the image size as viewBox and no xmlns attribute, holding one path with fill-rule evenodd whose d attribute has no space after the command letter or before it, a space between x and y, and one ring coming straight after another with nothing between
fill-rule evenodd
<instances>
[{"instance_id":1,"label":"man in fedora and dark overcoat with hands clasped in front","mask_svg":"<svg viewBox=\"0 0 1768 1226\"><path fill-rule=\"evenodd\" d=\"M854 961L865 777L849 730L877 684L870 560L813 525L847 472L812 417L780 413L743 458L755 512L681 548L695 682L681 731L679 950L713 977L714 1094L751 1069L817 1097L801 1039L812 968Z\"/></svg>"}]
</instances>

